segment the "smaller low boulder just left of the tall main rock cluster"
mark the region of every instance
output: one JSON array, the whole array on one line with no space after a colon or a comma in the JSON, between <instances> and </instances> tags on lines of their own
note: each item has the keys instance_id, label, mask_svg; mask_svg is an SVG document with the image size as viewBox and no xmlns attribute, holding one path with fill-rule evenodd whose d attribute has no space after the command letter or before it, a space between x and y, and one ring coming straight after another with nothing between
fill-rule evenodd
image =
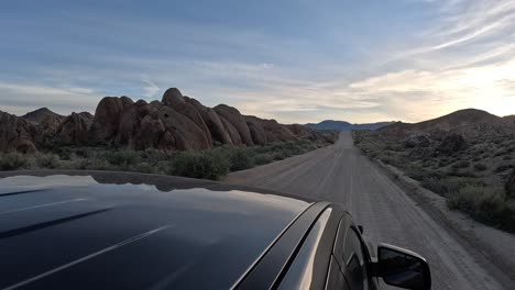
<instances>
[{"instance_id":1,"label":"smaller low boulder just left of the tall main rock cluster","mask_svg":"<svg viewBox=\"0 0 515 290\"><path fill-rule=\"evenodd\" d=\"M58 126L55 140L61 144L84 145L88 142L90 123L91 114L73 112Z\"/></svg>"}]
</instances>

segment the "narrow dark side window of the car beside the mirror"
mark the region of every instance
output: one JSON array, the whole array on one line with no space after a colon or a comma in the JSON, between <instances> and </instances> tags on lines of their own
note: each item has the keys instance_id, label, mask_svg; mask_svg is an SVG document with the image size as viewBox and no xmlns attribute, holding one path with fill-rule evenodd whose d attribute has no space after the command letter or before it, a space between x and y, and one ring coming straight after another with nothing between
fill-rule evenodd
<instances>
[{"instance_id":1,"label":"narrow dark side window of the car beside the mirror","mask_svg":"<svg viewBox=\"0 0 515 290\"><path fill-rule=\"evenodd\" d=\"M361 239L353 227L347 230L343 244L346 278L351 289L366 289L366 266Z\"/></svg>"}]
</instances>

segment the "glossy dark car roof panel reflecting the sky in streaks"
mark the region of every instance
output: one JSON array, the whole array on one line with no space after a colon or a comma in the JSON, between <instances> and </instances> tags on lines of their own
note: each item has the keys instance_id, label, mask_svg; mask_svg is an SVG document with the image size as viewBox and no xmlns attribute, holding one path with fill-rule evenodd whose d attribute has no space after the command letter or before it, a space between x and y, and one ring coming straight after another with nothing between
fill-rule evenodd
<instances>
[{"instance_id":1,"label":"glossy dark car roof panel reflecting the sky in streaks","mask_svg":"<svg viewBox=\"0 0 515 290\"><path fill-rule=\"evenodd\" d=\"M145 175L0 178L0 289L227 289L309 204Z\"/></svg>"}]
</instances>

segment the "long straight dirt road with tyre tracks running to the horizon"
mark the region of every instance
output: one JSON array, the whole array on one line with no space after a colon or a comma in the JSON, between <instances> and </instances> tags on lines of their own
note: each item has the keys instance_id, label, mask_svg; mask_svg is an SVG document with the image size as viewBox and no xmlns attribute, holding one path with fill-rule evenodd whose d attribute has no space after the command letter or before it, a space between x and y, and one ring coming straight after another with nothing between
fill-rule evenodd
<instances>
[{"instance_id":1,"label":"long straight dirt road with tyre tracks running to the horizon","mask_svg":"<svg viewBox=\"0 0 515 290\"><path fill-rule=\"evenodd\" d=\"M335 145L234 172L224 181L343 204L373 243L404 246L425 256L431 266L432 289L509 287L498 279L495 267L431 219L364 157L348 132Z\"/></svg>"}]
</instances>

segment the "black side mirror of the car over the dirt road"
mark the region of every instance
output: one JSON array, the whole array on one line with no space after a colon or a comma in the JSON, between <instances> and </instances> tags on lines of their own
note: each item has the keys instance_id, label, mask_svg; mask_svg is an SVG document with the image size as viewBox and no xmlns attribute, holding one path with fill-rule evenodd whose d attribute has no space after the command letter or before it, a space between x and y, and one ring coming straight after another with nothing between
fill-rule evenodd
<instances>
[{"instance_id":1,"label":"black side mirror of the car over the dirt road","mask_svg":"<svg viewBox=\"0 0 515 290\"><path fill-rule=\"evenodd\" d=\"M377 276L391 286L414 290L431 289L431 274L426 259L387 244L377 246Z\"/></svg>"}]
</instances>

